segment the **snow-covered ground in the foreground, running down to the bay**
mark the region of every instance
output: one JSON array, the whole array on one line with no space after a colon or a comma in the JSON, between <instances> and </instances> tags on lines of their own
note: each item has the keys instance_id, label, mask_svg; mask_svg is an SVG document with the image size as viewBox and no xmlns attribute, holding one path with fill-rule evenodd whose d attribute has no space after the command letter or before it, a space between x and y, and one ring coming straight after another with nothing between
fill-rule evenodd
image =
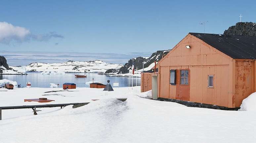
<instances>
[{"instance_id":1,"label":"snow-covered ground in the foreground, running down to the bay","mask_svg":"<svg viewBox=\"0 0 256 143\"><path fill-rule=\"evenodd\" d=\"M0 88L0 90L2 90ZM225 111L186 107L141 98L140 86L103 89L16 88L0 91L1 106L90 102L72 106L2 110L0 142L250 142L256 140L256 111ZM72 92L70 92L72 91ZM143 95L145 94L145 95ZM24 99L55 100L49 103ZM116 98L127 98L125 102ZM100 99L92 101L92 99Z\"/></svg>"}]
</instances>

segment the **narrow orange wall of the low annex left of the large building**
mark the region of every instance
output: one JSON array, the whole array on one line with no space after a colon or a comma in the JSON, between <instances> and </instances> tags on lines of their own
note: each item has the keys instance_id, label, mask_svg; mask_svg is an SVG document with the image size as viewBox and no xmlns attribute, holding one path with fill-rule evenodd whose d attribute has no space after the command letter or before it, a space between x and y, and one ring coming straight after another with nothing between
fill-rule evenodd
<instances>
[{"instance_id":1,"label":"narrow orange wall of the low annex left of the large building","mask_svg":"<svg viewBox=\"0 0 256 143\"><path fill-rule=\"evenodd\" d=\"M152 73L141 73L141 92L152 89Z\"/></svg>"}]
</instances>

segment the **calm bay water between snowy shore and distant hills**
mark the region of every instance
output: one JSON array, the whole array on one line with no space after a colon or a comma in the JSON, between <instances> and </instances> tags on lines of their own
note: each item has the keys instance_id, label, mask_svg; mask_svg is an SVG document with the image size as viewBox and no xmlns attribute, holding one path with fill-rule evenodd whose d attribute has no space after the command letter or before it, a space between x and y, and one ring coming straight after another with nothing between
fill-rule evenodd
<instances>
[{"instance_id":1,"label":"calm bay water between snowy shore and distant hills","mask_svg":"<svg viewBox=\"0 0 256 143\"><path fill-rule=\"evenodd\" d=\"M129 78L128 77L110 77L107 75L101 75L97 73L86 73L86 78L76 78L77 73L66 73L66 74L41 74L37 72L27 72L27 75L0 75L1 79L8 79L11 81L16 81L21 84L21 87L26 87L26 83L30 82L31 87L50 87L50 83L60 84L62 87L63 83L75 83L76 87L89 87L86 82L92 81L107 84L107 80L110 80L110 84L119 83L119 87L128 87ZM141 84L141 78L137 78L137 85ZM130 77L130 86L132 86L132 78ZM136 77L133 78L133 86L136 86Z\"/></svg>"}]
</instances>

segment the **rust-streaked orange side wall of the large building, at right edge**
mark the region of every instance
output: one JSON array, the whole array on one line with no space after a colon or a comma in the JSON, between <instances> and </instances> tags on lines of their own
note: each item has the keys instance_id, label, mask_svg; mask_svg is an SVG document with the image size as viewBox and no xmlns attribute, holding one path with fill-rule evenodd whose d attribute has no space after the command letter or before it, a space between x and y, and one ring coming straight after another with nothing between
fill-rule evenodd
<instances>
[{"instance_id":1,"label":"rust-streaked orange side wall of the large building, at right edge","mask_svg":"<svg viewBox=\"0 0 256 143\"><path fill-rule=\"evenodd\" d=\"M242 100L254 92L252 60L235 61L235 106L239 107Z\"/></svg>"}]
</instances>

